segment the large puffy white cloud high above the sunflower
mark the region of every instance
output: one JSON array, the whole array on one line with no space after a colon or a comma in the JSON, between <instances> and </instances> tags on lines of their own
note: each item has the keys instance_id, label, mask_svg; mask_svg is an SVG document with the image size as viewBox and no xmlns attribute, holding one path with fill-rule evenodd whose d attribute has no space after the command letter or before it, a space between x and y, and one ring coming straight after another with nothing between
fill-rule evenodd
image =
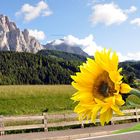
<instances>
[{"instance_id":1,"label":"large puffy white cloud high above the sunflower","mask_svg":"<svg viewBox=\"0 0 140 140\"><path fill-rule=\"evenodd\" d=\"M134 8L131 8L131 11ZM92 7L91 21L93 24L104 23L109 26L120 24L128 18L124 10L114 3L97 4Z\"/></svg>"}]
</instances>

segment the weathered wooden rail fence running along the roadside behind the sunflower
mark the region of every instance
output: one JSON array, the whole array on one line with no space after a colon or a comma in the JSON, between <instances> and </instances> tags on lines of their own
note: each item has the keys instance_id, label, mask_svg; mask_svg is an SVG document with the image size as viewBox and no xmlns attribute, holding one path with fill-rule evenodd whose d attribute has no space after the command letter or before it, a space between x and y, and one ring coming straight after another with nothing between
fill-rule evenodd
<instances>
[{"instance_id":1,"label":"weathered wooden rail fence running along the roadside behind the sunflower","mask_svg":"<svg viewBox=\"0 0 140 140\"><path fill-rule=\"evenodd\" d=\"M140 109L129 109L123 110L125 116L114 116L111 120L111 124L114 124L116 121L122 120L132 120L135 119L139 121L140 118ZM10 125L6 126L8 122L33 122L32 124L27 125ZM34 121L38 121L38 124L34 124ZM99 119L96 119L96 122L99 122ZM11 123L11 124L12 124ZM43 115L35 116L0 116L0 134L4 135L6 131L11 130L27 130L27 129L38 129L43 128L44 131L48 131L50 127L60 127L60 126L70 126L70 125L81 125L84 127L84 124L91 123L90 121L78 121L76 114L48 114L43 113Z\"/></svg>"}]
</instances>

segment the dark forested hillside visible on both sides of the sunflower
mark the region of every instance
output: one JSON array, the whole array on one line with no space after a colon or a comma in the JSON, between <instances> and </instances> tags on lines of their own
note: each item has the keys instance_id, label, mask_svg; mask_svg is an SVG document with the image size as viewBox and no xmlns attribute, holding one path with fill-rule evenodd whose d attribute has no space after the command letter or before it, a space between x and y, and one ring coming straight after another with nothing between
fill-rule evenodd
<instances>
[{"instance_id":1,"label":"dark forested hillside visible on both sides of the sunflower","mask_svg":"<svg viewBox=\"0 0 140 140\"><path fill-rule=\"evenodd\" d=\"M70 84L70 75L85 61L84 56L54 50L0 52L0 85ZM125 82L133 84L134 79L140 79L140 61L122 62L120 67Z\"/></svg>"}]
</instances>

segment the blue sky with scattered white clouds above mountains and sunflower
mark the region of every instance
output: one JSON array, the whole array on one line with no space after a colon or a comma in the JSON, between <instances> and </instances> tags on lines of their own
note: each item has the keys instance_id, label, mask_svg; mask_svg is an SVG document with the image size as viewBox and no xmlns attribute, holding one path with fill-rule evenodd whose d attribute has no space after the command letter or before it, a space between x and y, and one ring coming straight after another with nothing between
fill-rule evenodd
<instances>
[{"instance_id":1,"label":"blue sky with scattered white clouds above mountains and sunflower","mask_svg":"<svg viewBox=\"0 0 140 140\"><path fill-rule=\"evenodd\" d=\"M89 54L106 47L140 60L139 0L4 0L0 13L43 44L64 38Z\"/></svg>"}]
</instances>

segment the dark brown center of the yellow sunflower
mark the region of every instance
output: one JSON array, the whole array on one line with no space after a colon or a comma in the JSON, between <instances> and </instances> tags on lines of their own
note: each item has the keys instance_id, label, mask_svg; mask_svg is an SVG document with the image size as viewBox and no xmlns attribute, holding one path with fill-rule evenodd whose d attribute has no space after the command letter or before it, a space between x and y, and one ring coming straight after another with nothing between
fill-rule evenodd
<instances>
[{"instance_id":1,"label":"dark brown center of the yellow sunflower","mask_svg":"<svg viewBox=\"0 0 140 140\"><path fill-rule=\"evenodd\" d=\"M93 95L96 98L103 99L113 96L113 93L115 92L114 83L110 79L108 72L103 71L103 73L95 80L95 84L93 85Z\"/></svg>"}]
</instances>

